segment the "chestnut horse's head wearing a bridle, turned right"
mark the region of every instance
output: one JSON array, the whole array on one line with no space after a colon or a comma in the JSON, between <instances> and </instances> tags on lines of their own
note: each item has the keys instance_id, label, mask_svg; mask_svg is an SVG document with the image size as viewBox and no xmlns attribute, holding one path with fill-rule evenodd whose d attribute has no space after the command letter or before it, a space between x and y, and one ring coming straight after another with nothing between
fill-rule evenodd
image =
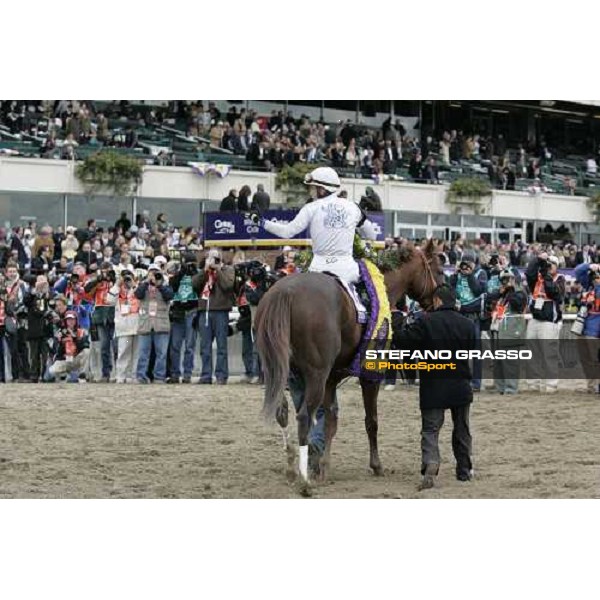
<instances>
[{"instance_id":1,"label":"chestnut horse's head wearing a bridle, turned right","mask_svg":"<svg viewBox=\"0 0 600 600\"><path fill-rule=\"evenodd\" d=\"M383 267L390 304L408 294L425 310L433 306L433 292L444 282L444 270L432 239L424 247L412 244L392 252L391 264Z\"/></svg>"}]
</instances>

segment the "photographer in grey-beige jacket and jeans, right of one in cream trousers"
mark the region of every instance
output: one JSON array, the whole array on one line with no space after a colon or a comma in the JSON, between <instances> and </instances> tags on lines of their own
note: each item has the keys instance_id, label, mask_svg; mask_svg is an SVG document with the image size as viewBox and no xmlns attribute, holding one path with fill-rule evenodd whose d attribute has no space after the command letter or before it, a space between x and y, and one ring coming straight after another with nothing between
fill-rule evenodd
<instances>
[{"instance_id":1,"label":"photographer in grey-beige jacket and jeans, right of one in cream trousers","mask_svg":"<svg viewBox=\"0 0 600 600\"><path fill-rule=\"evenodd\" d=\"M135 297L140 301L137 382L149 383L148 364L154 348L156 360L153 380L154 383L165 383L170 330L169 302L173 298L173 289L165 281L158 265L150 265L147 278L135 290Z\"/></svg>"}]
</instances>

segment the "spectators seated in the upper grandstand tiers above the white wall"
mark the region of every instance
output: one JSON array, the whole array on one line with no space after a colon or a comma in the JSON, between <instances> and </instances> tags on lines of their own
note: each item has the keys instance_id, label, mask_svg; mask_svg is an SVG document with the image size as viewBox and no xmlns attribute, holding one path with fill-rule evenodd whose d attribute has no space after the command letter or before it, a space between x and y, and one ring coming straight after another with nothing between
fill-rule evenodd
<instances>
[{"instance_id":1,"label":"spectators seated in the upper grandstand tiers above the white wall","mask_svg":"<svg viewBox=\"0 0 600 600\"><path fill-rule=\"evenodd\" d=\"M114 127L114 123L122 126ZM111 123L113 127L111 127ZM221 111L214 102L173 101L163 108L136 107L127 101L3 101L0 125L16 136L42 140L47 158L78 158L78 148L138 146L138 129L154 125L181 128L198 152L224 149L245 157L255 168L277 170L284 165L327 162L364 178L402 177L421 183L439 183L440 171L464 161L479 165L497 189L514 190L515 182L533 180L532 193L545 191L541 176L552 165L554 150L544 138L509 148L500 133L441 130L437 134L407 131L399 118L387 118L381 127L367 127L350 119L337 123L314 120L291 110L259 115L256 110L231 106ZM173 164L174 154L162 150L157 164ZM560 175L565 193L575 194L597 175L593 156L579 165L577 176ZM399 175L400 174L400 175Z\"/></svg>"}]
</instances>

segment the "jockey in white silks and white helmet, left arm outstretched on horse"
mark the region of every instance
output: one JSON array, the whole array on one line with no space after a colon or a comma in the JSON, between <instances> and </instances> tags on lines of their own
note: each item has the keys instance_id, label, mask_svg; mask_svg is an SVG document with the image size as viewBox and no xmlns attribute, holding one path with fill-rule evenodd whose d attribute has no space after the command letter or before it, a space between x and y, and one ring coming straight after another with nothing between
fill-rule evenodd
<instances>
[{"instance_id":1,"label":"jockey in white silks and white helmet, left arm outstretched on horse","mask_svg":"<svg viewBox=\"0 0 600 600\"><path fill-rule=\"evenodd\" d=\"M338 196L340 178L331 167L318 167L304 178L313 201L304 205L290 223L266 221L251 213L266 231L282 238L292 238L308 229L313 259L309 271L328 271L346 283L359 280L358 265L352 257L354 232L358 228L366 239L376 238L373 223L353 202Z\"/></svg>"}]
</instances>

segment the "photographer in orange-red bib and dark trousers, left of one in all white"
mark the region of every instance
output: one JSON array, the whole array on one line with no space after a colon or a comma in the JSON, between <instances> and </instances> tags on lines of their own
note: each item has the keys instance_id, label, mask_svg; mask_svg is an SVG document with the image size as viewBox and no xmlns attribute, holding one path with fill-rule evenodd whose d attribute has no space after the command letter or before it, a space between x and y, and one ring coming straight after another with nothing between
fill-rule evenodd
<instances>
[{"instance_id":1,"label":"photographer in orange-red bib and dark trousers, left of one in all white","mask_svg":"<svg viewBox=\"0 0 600 600\"><path fill-rule=\"evenodd\" d=\"M102 263L100 270L83 286L85 293L93 298L92 325L95 326L102 356L102 383L109 383L112 370L112 340L115 332L115 307L108 300L110 288L117 275L113 265Z\"/></svg>"}]
</instances>

